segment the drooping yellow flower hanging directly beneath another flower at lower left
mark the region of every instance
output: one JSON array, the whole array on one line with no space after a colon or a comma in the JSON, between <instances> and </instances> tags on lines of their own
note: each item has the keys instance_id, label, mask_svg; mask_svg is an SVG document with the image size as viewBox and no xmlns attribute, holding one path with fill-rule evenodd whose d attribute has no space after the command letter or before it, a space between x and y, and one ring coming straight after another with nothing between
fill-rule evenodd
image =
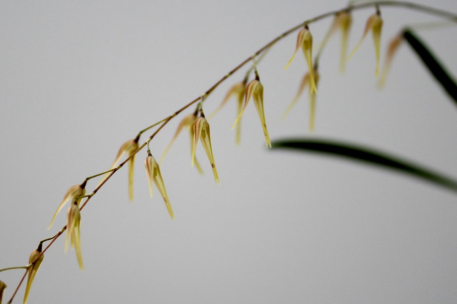
<instances>
[{"instance_id":1,"label":"drooping yellow flower hanging directly beneath another flower at lower left","mask_svg":"<svg viewBox=\"0 0 457 304\"><path fill-rule=\"evenodd\" d=\"M79 211L78 204L73 201L73 204L68 209L67 214L67 236L65 238L65 252L68 251L68 239L71 238L71 248L75 247L76 259L78 260L79 268L84 270L84 264L82 261L81 254L81 213Z\"/></svg>"}]
</instances>

